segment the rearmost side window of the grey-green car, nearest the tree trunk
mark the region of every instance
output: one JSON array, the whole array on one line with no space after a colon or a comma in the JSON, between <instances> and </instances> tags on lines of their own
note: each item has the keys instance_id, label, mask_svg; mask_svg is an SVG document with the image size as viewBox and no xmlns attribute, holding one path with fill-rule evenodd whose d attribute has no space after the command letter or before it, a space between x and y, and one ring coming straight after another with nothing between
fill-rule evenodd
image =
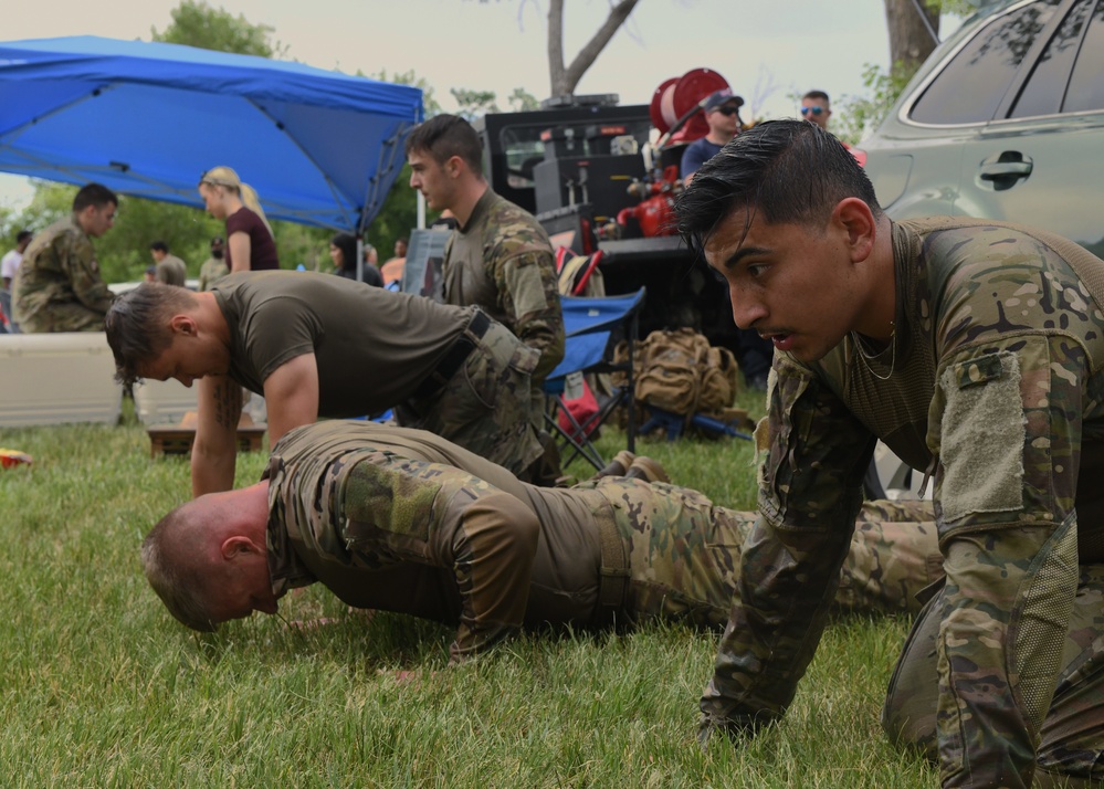
<instances>
[{"instance_id":1,"label":"rearmost side window of the grey-green car, nearest the tree trunk","mask_svg":"<svg viewBox=\"0 0 1104 789\"><path fill-rule=\"evenodd\" d=\"M927 86L910 117L926 124L991 119L1023 56L1060 2L1039 0L993 19Z\"/></svg>"}]
</instances>

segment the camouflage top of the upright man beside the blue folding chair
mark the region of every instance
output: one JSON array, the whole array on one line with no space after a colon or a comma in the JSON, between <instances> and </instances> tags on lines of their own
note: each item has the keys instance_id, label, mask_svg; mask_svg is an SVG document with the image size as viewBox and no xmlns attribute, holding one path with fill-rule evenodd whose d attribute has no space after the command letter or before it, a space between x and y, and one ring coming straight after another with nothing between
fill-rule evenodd
<instances>
[{"instance_id":1,"label":"camouflage top of the upright man beside the blue folding chair","mask_svg":"<svg viewBox=\"0 0 1104 789\"><path fill-rule=\"evenodd\" d=\"M530 213L493 190L444 250L444 301L477 304L518 339L540 351L539 385L564 358L564 316L551 242Z\"/></svg>"}]
</instances>

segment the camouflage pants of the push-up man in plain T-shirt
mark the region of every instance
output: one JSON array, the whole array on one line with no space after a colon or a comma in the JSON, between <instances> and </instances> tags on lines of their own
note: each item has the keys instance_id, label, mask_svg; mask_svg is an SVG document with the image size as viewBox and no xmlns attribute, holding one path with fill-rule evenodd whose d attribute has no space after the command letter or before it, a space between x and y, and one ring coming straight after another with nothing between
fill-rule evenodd
<instances>
[{"instance_id":1,"label":"camouflage pants of the push-up man in plain T-shirt","mask_svg":"<svg viewBox=\"0 0 1104 789\"><path fill-rule=\"evenodd\" d=\"M437 433L524 478L544 452L529 381L539 355L495 323L470 339L475 349L440 392L395 409L399 424Z\"/></svg>"}]
</instances>

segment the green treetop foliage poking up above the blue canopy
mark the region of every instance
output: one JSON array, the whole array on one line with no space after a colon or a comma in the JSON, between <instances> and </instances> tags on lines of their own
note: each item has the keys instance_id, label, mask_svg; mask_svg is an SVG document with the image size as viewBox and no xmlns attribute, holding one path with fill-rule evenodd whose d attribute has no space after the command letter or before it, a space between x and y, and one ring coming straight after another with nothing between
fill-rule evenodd
<instances>
[{"instance_id":1,"label":"green treetop foliage poking up above the blue canopy","mask_svg":"<svg viewBox=\"0 0 1104 789\"><path fill-rule=\"evenodd\" d=\"M172 9L171 15L172 22L165 32L150 28L154 41L260 57L281 57L287 52L286 46L270 40L273 28L253 24L241 14L234 17L222 8L213 9L206 2L182 0Z\"/></svg>"}]
</instances>

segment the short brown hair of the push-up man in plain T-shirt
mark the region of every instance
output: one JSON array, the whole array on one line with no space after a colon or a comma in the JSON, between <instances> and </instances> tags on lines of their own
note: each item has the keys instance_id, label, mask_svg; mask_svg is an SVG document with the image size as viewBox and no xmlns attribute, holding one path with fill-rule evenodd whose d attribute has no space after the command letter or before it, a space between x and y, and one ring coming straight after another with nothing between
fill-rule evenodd
<instances>
[{"instance_id":1,"label":"short brown hair of the push-up man in plain T-shirt","mask_svg":"<svg viewBox=\"0 0 1104 789\"><path fill-rule=\"evenodd\" d=\"M172 341L169 318L196 306L187 287L144 282L112 302L104 318L107 344L115 355L115 380L133 386L138 368L156 359Z\"/></svg>"}]
</instances>

